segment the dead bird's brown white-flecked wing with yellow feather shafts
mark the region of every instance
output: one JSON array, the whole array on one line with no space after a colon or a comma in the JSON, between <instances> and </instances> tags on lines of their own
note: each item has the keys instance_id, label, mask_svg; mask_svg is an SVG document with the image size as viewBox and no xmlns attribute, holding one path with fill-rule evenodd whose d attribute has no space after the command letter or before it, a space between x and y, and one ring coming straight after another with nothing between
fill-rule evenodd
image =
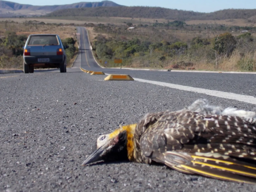
<instances>
[{"instance_id":1,"label":"dead bird's brown white-flecked wing with yellow feather shafts","mask_svg":"<svg viewBox=\"0 0 256 192\"><path fill-rule=\"evenodd\" d=\"M139 161L180 172L256 183L256 128L236 116L194 112L148 114L135 131ZM250 161L250 163L248 163Z\"/></svg>"}]
</instances>

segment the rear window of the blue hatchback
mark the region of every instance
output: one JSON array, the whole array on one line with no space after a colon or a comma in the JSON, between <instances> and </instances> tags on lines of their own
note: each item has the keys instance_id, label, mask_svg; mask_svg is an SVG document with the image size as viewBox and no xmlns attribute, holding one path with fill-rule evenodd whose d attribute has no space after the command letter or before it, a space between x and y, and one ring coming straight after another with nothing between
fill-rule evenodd
<instances>
[{"instance_id":1,"label":"rear window of the blue hatchback","mask_svg":"<svg viewBox=\"0 0 256 192\"><path fill-rule=\"evenodd\" d=\"M56 35L35 35L29 39L29 45L58 45Z\"/></svg>"}]
</instances>

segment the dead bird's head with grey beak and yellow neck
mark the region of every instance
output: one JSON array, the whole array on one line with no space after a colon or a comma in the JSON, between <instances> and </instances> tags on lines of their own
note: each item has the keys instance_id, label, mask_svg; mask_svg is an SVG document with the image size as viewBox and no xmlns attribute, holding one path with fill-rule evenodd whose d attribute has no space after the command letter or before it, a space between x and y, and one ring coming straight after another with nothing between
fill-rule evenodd
<instances>
[{"instance_id":1,"label":"dead bird's head with grey beak and yellow neck","mask_svg":"<svg viewBox=\"0 0 256 192\"><path fill-rule=\"evenodd\" d=\"M132 160L134 150L134 131L137 124L121 126L110 134L97 139L97 149L82 166L98 161Z\"/></svg>"}]
</instances>

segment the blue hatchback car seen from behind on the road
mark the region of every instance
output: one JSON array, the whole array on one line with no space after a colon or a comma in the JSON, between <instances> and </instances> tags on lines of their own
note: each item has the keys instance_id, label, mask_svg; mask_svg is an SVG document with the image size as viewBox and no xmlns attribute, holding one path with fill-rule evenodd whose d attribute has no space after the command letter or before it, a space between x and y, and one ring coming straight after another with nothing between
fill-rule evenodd
<instances>
[{"instance_id":1,"label":"blue hatchback car seen from behind on the road","mask_svg":"<svg viewBox=\"0 0 256 192\"><path fill-rule=\"evenodd\" d=\"M34 73L34 68L59 68L66 73L66 52L61 38L56 34L29 35L23 52L24 73Z\"/></svg>"}]
</instances>

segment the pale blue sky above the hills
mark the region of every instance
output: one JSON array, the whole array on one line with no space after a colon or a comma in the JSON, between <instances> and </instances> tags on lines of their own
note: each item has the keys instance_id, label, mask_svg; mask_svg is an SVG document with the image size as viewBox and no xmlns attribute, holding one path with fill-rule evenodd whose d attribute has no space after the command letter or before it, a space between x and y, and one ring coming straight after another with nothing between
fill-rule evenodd
<instances>
[{"instance_id":1,"label":"pale blue sky above the hills","mask_svg":"<svg viewBox=\"0 0 256 192\"><path fill-rule=\"evenodd\" d=\"M63 5L78 2L99 2L101 0L9 0L30 5ZM220 9L256 9L256 0L112 0L125 6L158 6L196 12L214 12Z\"/></svg>"}]
</instances>

